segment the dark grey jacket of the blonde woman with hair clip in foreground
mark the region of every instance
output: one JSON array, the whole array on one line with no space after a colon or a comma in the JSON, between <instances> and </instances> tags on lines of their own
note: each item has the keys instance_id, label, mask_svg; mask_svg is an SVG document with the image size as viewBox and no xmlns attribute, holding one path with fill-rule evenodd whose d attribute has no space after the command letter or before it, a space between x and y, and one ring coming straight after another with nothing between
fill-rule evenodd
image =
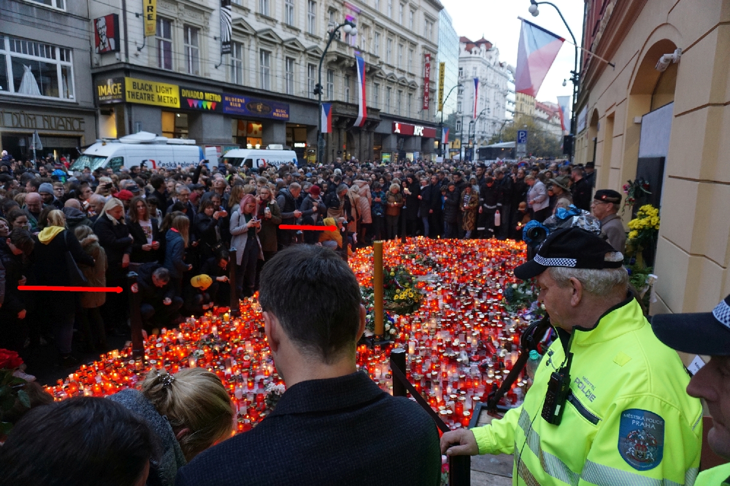
<instances>
[{"instance_id":1,"label":"dark grey jacket of the blonde woman with hair clip in foreground","mask_svg":"<svg viewBox=\"0 0 730 486\"><path fill-rule=\"evenodd\" d=\"M138 390L122 390L110 396L109 399L124 405L131 412L144 418L147 425L158 435L161 444L160 458L153 461L154 463L150 462L150 465L154 467L155 479L158 479L158 484L174 485L177 469L185 466L187 461L185 461L183 450L180 449L180 444L177 442L167 418L160 415L152 402L147 400L142 392ZM150 469L150 476L152 474L153 471ZM147 483L154 483L150 479L147 479Z\"/></svg>"}]
</instances>

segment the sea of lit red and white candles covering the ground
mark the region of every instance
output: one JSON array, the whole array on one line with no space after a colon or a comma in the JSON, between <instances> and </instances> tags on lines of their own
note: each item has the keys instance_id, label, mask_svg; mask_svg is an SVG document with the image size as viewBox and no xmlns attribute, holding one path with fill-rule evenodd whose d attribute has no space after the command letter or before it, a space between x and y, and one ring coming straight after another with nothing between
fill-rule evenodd
<instances>
[{"instance_id":1,"label":"sea of lit red and white candles covering the ground","mask_svg":"<svg viewBox=\"0 0 730 486\"><path fill-rule=\"evenodd\" d=\"M524 243L512 240L388 241L383 264L404 265L419 277L424 292L420 308L393 315L388 344L357 347L358 368L384 391L392 391L388 356L392 348L407 350L406 375L452 428L466 426L476 404L496 390L517 361L526 311L507 313L502 291L514 283L512 269L524 262ZM349 261L363 286L372 285L372 248L362 248ZM131 357L131 345L105 353L82 365L46 390L55 399L105 396L135 387L153 368L177 372L204 367L214 372L237 409L238 431L250 430L266 417L266 388L283 385L264 335L264 320L255 299L245 299L241 315L215 308L200 318L187 318L175 329L161 329L145 340L144 358ZM504 398L515 406L524 396L519 379Z\"/></svg>"}]
</instances>

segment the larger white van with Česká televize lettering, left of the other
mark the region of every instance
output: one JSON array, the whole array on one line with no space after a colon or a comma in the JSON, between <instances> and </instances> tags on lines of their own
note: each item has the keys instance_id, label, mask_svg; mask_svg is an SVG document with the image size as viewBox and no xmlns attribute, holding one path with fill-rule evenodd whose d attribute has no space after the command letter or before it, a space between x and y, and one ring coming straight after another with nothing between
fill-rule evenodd
<instances>
[{"instance_id":1,"label":"larger white van with \u010cesk\u00e1 televize lettering, left of the other","mask_svg":"<svg viewBox=\"0 0 730 486\"><path fill-rule=\"evenodd\" d=\"M148 169L191 167L203 160L201 147L194 140L166 138L154 133L139 132L124 136L118 140L97 141L85 149L74 165L72 171L81 171L88 167L92 171L97 168L112 168L118 171L122 167L144 163Z\"/></svg>"}]
</instances>

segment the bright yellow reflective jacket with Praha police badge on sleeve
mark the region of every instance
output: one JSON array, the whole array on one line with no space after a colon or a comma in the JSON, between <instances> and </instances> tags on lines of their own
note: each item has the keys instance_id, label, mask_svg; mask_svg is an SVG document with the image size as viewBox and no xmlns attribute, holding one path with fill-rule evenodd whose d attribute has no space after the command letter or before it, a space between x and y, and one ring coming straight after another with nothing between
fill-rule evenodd
<instances>
[{"instance_id":1,"label":"bright yellow reflective jacket with Praha police badge on sleeve","mask_svg":"<svg viewBox=\"0 0 730 486\"><path fill-rule=\"evenodd\" d=\"M686 393L682 361L653 334L639 303L629 297L593 329L574 327L569 346L561 424L541 416L550 374L566 356L556 340L523 405L474 429L480 454L514 454L515 485L694 485L702 405Z\"/></svg>"}]
</instances>

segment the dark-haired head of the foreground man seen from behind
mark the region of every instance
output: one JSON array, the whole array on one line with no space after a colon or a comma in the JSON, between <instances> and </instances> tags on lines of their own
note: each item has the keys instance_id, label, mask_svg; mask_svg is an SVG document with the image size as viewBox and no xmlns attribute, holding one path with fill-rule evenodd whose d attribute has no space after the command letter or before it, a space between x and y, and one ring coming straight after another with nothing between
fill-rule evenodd
<instances>
[{"instance_id":1,"label":"dark-haired head of the foreground man seen from behind","mask_svg":"<svg viewBox=\"0 0 730 486\"><path fill-rule=\"evenodd\" d=\"M280 251L261 271L258 301L287 388L356 371L365 307L353 271L334 251L309 245Z\"/></svg>"}]
</instances>

